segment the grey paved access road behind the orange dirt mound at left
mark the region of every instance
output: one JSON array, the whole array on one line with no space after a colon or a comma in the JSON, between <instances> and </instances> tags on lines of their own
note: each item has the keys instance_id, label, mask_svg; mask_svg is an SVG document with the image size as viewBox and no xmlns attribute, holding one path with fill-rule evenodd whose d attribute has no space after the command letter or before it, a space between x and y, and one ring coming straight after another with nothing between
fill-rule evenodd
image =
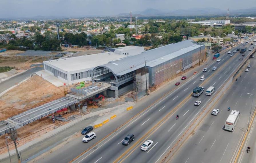
<instances>
[{"instance_id":1,"label":"grey paved access road behind the orange dirt mound at left","mask_svg":"<svg viewBox=\"0 0 256 163\"><path fill-rule=\"evenodd\" d=\"M8 88L11 88L15 85L15 83L21 82L28 78L31 74L43 70L43 67L34 67L32 69L29 69L28 71L21 73L15 77L12 77L6 81L3 81L0 83L0 93L7 90Z\"/></svg>"}]
</instances>

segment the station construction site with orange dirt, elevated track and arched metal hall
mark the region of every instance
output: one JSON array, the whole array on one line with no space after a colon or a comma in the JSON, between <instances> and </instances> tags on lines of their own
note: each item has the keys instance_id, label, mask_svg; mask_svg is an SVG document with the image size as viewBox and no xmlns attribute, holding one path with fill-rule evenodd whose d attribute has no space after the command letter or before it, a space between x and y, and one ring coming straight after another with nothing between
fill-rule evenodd
<instances>
[{"instance_id":1,"label":"station construction site with orange dirt, elevated track and arched metal hall","mask_svg":"<svg viewBox=\"0 0 256 163\"><path fill-rule=\"evenodd\" d=\"M34 74L1 96L0 149L13 130L25 144L94 110L136 102L199 59L204 61L204 49L190 40L170 44L98 65L91 71L92 80L59 87Z\"/></svg>"}]
</instances>

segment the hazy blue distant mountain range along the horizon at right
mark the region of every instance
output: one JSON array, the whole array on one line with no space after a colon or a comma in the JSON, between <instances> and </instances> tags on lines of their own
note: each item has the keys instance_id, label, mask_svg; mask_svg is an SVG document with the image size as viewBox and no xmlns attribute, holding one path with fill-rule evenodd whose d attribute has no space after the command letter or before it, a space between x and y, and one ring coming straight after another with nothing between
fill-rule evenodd
<instances>
[{"instance_id":1,"label":"hazy blue distant mountain range along the horizon at right","mask_svg":"<svg viewBox=\"0 0 256 163\"><path fill-rule=\"evenodd\" d=\"M217 8L192 8L192 9L178 9L174 11L160 11L157 9L146 9L144 11L135 11L133 16L202 16L202 15L224 15L227 11ZM256 8L230 10L230 15L256 13ZM117 16L129 16L129 13L118 14Z\"/></svg>"}]
</instances>

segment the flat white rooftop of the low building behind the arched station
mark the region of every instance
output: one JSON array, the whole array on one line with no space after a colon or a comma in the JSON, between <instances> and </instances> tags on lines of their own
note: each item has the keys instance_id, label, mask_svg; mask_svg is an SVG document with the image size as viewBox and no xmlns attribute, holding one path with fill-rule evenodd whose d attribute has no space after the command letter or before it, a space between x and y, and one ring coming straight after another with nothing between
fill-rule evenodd
<instances>
[{"instance_id":1,"label":"flat white rooftop of the low building behind the arched station","mask_svg":"<svg viewBox=\"0 0 256 163\"><path fill-rule=\"evenodd\" d=\"M110 53L110 55L109 55ZM97 53L90 55L83 55L79 57L55 59L50 61L44 61L64 71L76 71L80 69L90 69L98 65L104 65L110 61L127 57L126 55L116 54L114 52Z\"/></svg>"}]
</instances>

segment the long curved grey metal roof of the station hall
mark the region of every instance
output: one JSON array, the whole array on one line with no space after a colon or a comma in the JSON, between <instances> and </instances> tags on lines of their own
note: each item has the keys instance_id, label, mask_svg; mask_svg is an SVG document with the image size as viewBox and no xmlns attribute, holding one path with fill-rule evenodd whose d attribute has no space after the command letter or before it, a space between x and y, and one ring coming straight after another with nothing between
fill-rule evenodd
<instances>
[{"instance_id":1,"label":"long curved grey metal roof of the station hall","mask_svg":"<svg viewBox=\"0 0 256 163\"><path fill-rule=\"evenodd\" d=\"M159 57L163 57L165 55L174 53L176 51L179 51L180 49L188 48L193 45L195 44L193 44L192 40L186 40L175 44L162 46L160 48L148 50L138 55L125 57L116 61L111 61L110 63L98 67L104 66L110 69L112 73L114 73L115 75L121 76L143 67L145 65L145 59L146 62L149 62ZM183 51L180 51L180 54L183 54ZM94 69L97 69L98 67L95 67Z\"/></svg>"}]
</instances>

